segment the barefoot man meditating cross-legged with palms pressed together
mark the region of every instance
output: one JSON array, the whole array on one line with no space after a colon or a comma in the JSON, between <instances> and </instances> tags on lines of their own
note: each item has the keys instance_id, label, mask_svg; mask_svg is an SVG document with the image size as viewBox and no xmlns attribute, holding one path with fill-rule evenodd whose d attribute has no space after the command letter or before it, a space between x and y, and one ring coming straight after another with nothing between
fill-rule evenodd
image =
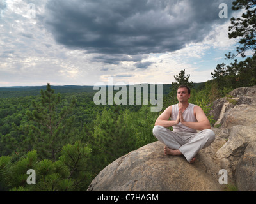
<instances>
[{"instance_id":1,"label":"barefoot man meditating cross-legged with palms pressed together","mask_svg":"<svg viewBox=\"0 0 256 204\"><path fill-rule=\"evenodd\" d=\"M192 164L196 154L214 141L215 134L202 108L188 103L189 98L189 87L180 85L177 90L179 103L166 108L157 118L153 135L165 144L164 154L184 155ZM173 131L168 129L171 126Z\"/></svg>"}]
</instances>

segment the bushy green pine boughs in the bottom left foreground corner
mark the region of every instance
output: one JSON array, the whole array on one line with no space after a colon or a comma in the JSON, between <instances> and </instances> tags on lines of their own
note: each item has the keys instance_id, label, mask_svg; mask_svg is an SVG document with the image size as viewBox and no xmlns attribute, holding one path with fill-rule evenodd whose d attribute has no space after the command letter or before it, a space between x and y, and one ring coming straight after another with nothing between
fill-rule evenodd
<instances>
[{"instance_id":1,"label":"bushy green pine boughs in the bottom left foreground corner","mask_svg":"<svg viewBox=\"0 0 256 204\"><path fill-rule=\"evenodd\" d=\"M90 182L86 159L91 150L81 142L65 145L58 161L38 159L35 150L19 161L10 156L0 157L0 178L4 190L10 191L81 191ZM27 183L27 171L36 172L36 184Z\"/></svg>"}]
</instances>

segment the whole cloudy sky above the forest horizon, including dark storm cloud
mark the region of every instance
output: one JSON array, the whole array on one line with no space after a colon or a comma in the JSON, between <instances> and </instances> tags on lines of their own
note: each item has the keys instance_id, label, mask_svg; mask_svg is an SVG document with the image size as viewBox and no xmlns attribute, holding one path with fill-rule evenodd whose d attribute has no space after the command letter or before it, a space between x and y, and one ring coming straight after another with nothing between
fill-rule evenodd
<instances>
[{"instance_id":1,"label":"whole cloudy sky above the forest horizon, including dark storm cloud","mask_svg":"<svg viewBox=\"0 0 256 204\"><path fill-rule=\"evenodd\" d=\"M206 82L236 53L231 2L0 0L0 87Z\"/></svg>"}]
</instances>

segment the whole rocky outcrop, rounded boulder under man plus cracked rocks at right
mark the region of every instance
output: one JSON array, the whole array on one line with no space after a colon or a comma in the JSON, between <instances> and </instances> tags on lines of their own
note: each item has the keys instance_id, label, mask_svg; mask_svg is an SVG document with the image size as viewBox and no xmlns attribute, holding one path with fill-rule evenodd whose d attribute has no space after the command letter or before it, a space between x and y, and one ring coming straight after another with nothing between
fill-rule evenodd
<instances>
[{"instance_id":1,"label":"whole rocky outcrop, rounded boulder under man plus cracked rocks at right","mask_svg":"<svg viewBox=\"0 0 256 204\"><path fill-rule=\"evenodd\" d=\"M214 101L212 115L216 139L194 164L165 156L161 142L150 143L109 164L88 191L223 191L221 169L239 191L256 191L256 86Z\"/></svg>"}]
</instances>

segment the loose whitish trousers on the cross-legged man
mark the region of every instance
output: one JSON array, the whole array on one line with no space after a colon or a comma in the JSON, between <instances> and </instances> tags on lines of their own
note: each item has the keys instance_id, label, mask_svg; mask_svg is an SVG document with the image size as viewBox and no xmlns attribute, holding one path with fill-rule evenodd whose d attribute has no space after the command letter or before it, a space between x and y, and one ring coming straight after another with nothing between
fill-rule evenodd
<instances>
[{"instance_id":1,"label":"loose whitish trousers on the cross-legged man","mask_svg":"<svg viewBox=\"0 0 256 204\"><path fill-rule=\"evenodd\" d=\"M199 133L185 131L178 133L163 126L154 126L153 135L170 149L179 149L188 162L215 139L215 133L211 129L205 129Z\"/></svg>"}]
</instances>

